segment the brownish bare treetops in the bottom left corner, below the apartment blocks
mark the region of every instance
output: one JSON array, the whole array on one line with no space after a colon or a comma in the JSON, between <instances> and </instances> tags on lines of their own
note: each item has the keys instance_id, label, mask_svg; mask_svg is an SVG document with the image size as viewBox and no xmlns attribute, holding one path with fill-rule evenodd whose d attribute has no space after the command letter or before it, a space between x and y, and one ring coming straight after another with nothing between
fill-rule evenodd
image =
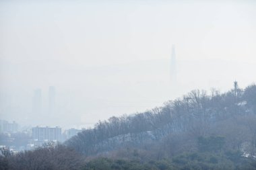
<instances>
[{"instance_id":1,"label":"brownish bare treetops in the bottom left corner, below the apartment blocks","mask_svg":"<svg viewBox=\"0 0 256 170\"><path fill-rule=\"evenodd\" d=\"M1 148L0 169L55 170L82 169L85 159L82 155L62 144L49 142L34 151L13 154L9 148Z\"/></svg>"}]
</instances>

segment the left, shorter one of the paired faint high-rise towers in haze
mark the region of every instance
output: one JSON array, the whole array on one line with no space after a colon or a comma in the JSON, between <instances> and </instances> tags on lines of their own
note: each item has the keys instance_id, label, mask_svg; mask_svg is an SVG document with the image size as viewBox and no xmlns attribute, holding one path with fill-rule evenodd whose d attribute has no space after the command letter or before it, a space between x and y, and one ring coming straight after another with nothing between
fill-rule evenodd
<instances>
[{"instance_id":1,"label":"left, shorter one of the paired faint high-rise towers in haze","mask_svg":"<svg viewBox=\"0 0 256 170\"><path fill-rule=\"evenodd\" d=\"M42 113L42 95L41 89L34 90L34 95L32 99L32 112L34 116L40 116Z\"/></svg>"}]
</instances>

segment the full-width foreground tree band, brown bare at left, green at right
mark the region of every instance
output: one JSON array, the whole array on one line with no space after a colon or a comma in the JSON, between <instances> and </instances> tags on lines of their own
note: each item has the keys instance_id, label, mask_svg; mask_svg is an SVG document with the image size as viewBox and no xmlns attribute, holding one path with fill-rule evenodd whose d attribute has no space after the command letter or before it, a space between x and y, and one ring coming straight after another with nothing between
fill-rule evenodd
<instances>
[{"instance_id":1,"label":"full-width foreground tree band, brown bare at left, green at right","mask_svg":"<svg viewBox=\"0 0 256 170\"><path fill-rule=\"evenodd\" d=\"M199 151L185 152L172 158L146 159L138 149L125 148L126 158L98 157L88 159L61 144L46 144L34 151L12 155L6 150L0 157L0 169L48 170L253 170L255 159L245 157L241 151L225 151L222 136L200 137ZM2 150L3 151L3 150Z\"/></svg>"}]
</instances>

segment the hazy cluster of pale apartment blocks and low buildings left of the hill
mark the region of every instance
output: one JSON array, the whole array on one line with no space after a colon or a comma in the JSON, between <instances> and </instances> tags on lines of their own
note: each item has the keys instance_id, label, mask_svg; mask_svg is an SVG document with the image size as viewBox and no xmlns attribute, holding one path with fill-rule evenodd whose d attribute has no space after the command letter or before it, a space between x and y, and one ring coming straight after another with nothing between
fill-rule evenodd
<instances>
[{"instance_id":1,"label":"hazy cluster of pale apartment blocks and low buildings left of the hill","mask_svg":"<svg viewBox=\"0 0 256 170\"><path fill-rule=\"evenodd\" d=\"M82 130L71 128L64 130L58 126L35 126L20 128L16 122L0 120L0 146L7 146L13 151L23 151L42 146L46 142L64 142Z\"/></svg>"}]
</instances>

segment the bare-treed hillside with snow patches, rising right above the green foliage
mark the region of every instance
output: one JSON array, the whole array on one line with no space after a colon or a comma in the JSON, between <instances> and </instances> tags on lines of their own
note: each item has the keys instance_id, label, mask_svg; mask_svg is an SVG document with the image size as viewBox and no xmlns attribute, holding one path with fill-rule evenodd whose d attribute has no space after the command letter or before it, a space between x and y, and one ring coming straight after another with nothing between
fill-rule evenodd
<instances>
[{"instance_id":1,"label":"bare-treed hillside with snow patches, rising right above the green foliage","mask_svg":"<svg viewBox=\"0 0 256 170\"><path fill-rule=\"evenodd\" d=\"M151 158L202 149L232 149L255 157L256 85L226 93L194 90L160 108L100 121L65 144L87 157L127 158L126 149Z\"/></svg>"}]
</instances>

